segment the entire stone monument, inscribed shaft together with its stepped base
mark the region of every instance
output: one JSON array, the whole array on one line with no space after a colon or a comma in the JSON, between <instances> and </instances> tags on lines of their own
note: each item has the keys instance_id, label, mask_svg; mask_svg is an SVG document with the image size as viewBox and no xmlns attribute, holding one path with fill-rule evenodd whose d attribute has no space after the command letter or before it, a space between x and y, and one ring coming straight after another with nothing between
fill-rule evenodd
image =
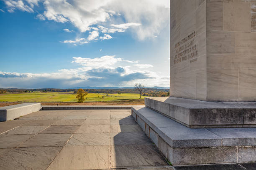
<instances>
[{"instance_id":1,"label":"entire stone monument, inscribed shaft together with its stepped base","mask_svg":"<svg viewBox=\"0 0 256 170\"><path fill-rule=\"evenodd\" d=\"M256 0L170 0L170 97L145 105L172 165L256 162Z\"/></svg>"}]
</instances>

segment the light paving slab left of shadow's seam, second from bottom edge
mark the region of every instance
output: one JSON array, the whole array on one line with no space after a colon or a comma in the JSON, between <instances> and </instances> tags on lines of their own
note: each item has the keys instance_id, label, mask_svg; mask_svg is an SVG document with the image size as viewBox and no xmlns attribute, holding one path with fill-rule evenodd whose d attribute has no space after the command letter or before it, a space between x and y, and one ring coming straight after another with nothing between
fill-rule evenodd
<instances>
[{"instance_id":1,"label":"light paving slab left of shadow's seam, second from bottom edge","mask_svg":"<svg viewBox=\"0 0 256 170\"><path fill-rule=\"evenodd\" d=\"M77 133L67 143L67 146L109 145L110 133Z\"/></svg>"}]
</instances>

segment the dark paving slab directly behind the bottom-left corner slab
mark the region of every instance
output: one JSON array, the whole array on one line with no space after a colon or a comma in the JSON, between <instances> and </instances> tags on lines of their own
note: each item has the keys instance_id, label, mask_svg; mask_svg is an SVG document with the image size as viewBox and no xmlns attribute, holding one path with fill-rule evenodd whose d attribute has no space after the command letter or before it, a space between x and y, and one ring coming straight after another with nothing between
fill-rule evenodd
<instances>
[{"instance_id":1,"label":"dark paving slab directly behind the bottom-left corner slab","mask_svg":"<svg viewBox=\"0 0 256 170\"><path fill-rule=\"evenodd\" d=\"M71 136L72 134L38 134L19 147L64 146Z\"/></svg>"}]
</instances>

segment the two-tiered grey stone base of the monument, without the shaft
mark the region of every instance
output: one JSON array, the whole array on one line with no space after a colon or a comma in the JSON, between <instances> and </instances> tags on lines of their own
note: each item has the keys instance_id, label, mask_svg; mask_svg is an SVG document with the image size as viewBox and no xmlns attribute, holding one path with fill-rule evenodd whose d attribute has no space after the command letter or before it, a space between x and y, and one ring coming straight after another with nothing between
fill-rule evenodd
<instances>
[{"instance_id":1,"label":"two-tiered grey stone base of the monument, without the shaft","mask_svg":"<svg viewBox=\"0 0 256 170\"><path fill-rule=\"evenodd\" d=\"M256 162L256 128L241 127L254 126L243 116L248 111L253 120L253 103L150 97L146 107L132 107L132 115L172 165L248 163Z\"/></svg>"}]
</instances>

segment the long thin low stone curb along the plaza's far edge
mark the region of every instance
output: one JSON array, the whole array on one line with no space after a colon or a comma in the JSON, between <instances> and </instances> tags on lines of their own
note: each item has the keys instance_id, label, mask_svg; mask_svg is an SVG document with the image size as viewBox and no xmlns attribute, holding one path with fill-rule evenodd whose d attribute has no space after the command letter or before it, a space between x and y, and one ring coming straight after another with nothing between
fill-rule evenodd
<instances>
[{"instance_id":1,"label":"long thin low stone curb along the plaza's far edge","mask_svg":"<svg viewBox=\"0 0 256 170\"><path fill-rule=\"evenodd\" d=\"M87 109L131 109L131 107L142 107L132 105L60 105L60 106L42 106L42 110L87 110Z\"/></svg>"}]
</instances>

